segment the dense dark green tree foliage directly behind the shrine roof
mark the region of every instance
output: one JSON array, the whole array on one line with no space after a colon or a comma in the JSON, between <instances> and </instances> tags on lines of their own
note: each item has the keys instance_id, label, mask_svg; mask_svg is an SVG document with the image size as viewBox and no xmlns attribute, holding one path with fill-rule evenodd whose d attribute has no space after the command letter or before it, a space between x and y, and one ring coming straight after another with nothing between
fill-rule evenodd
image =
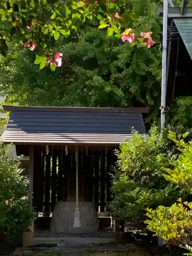
<instances>
[{"instance_id":1,"label":"dense dark green tree foliage directly behind the shrine roof","mask_svg":"<svg viewBox=\"0 0 192 256\"><path fill-rule=\"evenodd\" d=\"M146 17L147 18L147 17ZM151 25L152 26L152 25ZM160 25L153 24L160 40ZM157 116L161 52L119 42L89 23L57 42L63 66L39 71L35 53L15 47L15 60L0 61L1 95L21 105L151 106Z\"/></svg>"}]
</instances>

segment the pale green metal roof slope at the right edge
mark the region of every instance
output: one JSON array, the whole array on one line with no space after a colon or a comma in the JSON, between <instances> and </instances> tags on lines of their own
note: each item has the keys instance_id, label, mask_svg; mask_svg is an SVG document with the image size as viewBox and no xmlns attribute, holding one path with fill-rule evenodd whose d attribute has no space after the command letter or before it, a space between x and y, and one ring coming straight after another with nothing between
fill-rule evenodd
<instances>
[{"instance_id":1,"label":"pale green metal roof slope at the right edge","mask_svg":"<svg viewBox=\"0 0 192 256\"><path fill-rule=\"evenodd\" d=\"M174 23L192 59L192 18L174 18Z\"/></svg>"}]
</instances>

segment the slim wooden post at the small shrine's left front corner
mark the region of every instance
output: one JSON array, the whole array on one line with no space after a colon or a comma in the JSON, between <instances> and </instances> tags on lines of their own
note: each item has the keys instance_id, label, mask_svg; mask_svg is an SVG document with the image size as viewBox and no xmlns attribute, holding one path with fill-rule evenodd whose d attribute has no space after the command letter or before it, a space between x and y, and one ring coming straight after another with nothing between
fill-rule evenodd
<instances>
[{"instance_id":1,"label":"slim wooden post at the small shrine's left front corner","mask_svg":"<svg viewBox=\"0 0 192 256\"><path fill-rule=\"evenodd\" d=\"M34 145L29 146L29 186L28 186L28 197L29 203L33 206L33 171L34 171ZM34 223L32 222L29 229L31 232L34 231Z\"/></svg>"}]
</instances>

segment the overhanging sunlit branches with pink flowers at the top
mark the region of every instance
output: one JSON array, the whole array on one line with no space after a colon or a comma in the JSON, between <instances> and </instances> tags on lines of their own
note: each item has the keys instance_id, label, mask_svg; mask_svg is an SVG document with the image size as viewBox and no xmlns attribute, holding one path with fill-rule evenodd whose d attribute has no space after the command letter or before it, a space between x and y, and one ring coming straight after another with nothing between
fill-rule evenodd
<instances>
[{"instance_id":1,"label":"overhanging sunlit branches with pink flowers at the top","mask_svg":"<svg viewBox=\"0 0 192 256\"><path fill-rule=\"evenodd\" d=\"M35 63L40 69L50 63L54 71L60 66L55 61L55 42L68 37L72 31L77 32L81 24L92 19L98 21L98 28L106 29L108 36L115 34L119 38L124 31L123 40L130 41L132 37L130 42L136 44L138 37L140 44L151 47L154 44L151 33L143 31L151 27L153 20L153 13L148 16L149 20L144 18L147 4L151 4L154 11L155 4L150 0L144 3L141 0L4 0L0 4L0 50L6 56L8 47L12 46L9 42L22 43L36 50Z\"/></svg>"}]
</instances>

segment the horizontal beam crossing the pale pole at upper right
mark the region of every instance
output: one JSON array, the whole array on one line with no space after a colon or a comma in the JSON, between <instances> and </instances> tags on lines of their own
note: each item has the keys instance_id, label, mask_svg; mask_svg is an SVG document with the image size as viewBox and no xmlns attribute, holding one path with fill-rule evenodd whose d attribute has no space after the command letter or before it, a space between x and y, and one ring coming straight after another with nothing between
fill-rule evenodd
<instances>
[{"instance_id":1,"label":"horizontal beam crossing the pale pole at upper right","mask_svg":"<svg viewBox=\"0 0 192 256\"><path fill-rule=\"evenodd\" d=\"M157 14L159 17L163 17L163 8L158 8ZM192 8L185 8L183 15L181 15L180 7L169 7L168 8L168 17L169 18L192 18Z\"/></svg>"}]
</instances>

